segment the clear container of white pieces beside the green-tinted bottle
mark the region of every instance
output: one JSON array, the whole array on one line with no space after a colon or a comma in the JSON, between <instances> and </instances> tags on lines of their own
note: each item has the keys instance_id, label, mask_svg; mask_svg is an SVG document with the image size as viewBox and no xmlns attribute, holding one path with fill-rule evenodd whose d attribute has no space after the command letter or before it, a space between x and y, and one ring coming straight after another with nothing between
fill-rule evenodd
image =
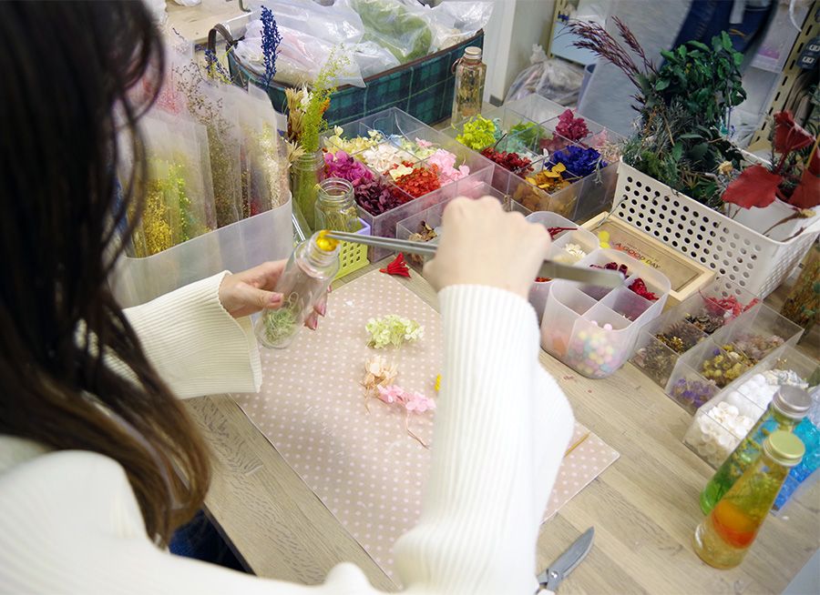
<instances>
[{"instance_id":1,"label":"clear container of white pieces beside the green-tinted bottle","mask_svg":"<svg viewBox=\"0 0 820 595\"><path fill-rule=\"evenodd\" d=\"M791 345L775 348L697 410L684 444L717 469L763 415L777 388L808 388L817 367L816 360Z\"/></svg>"}]
</instances>

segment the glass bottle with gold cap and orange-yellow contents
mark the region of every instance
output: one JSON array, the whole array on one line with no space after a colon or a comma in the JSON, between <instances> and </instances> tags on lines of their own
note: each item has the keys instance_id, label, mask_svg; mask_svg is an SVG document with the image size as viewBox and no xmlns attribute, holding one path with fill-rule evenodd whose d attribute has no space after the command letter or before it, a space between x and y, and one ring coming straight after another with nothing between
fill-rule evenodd
<instances>
[{"instance_id":1,"label":"glass bottle with gold cap and orange-yellow contents","mask_svg":"<svg viewBox=\"0 0 820 595\"><path fill-rule=\"evenodd\" d=\"M789 469L804 453L803 442L791 432L777 430L765 439L760 457L695 529L694 550L701 560L719 569L743 561Z\"/></svg>"}]
</instances>

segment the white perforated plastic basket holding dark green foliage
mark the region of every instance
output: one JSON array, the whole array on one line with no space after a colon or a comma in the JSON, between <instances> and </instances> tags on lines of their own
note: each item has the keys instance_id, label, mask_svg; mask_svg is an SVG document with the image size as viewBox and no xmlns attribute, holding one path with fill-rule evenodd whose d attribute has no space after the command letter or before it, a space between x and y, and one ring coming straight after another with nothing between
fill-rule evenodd
<instances>
[{"instance_id":1,"label":"white perforated plastic basket holding dark green foliage","mask_svg":"<svg viewBox=\"0 0 820 595\"><path fill-rule=\"evenodd\" d=\"M764 237L620 162L612 213L765 298L820 234L820 221L788 242Z\"/></svg>"}]
</instances>

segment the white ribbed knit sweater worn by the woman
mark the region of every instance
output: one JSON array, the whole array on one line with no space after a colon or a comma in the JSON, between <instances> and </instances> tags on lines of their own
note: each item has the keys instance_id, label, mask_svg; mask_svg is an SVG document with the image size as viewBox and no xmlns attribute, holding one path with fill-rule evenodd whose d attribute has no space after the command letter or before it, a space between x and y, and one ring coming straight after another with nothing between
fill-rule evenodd
<instances>
[{"instance_id":1,"label":"white ribbed knit sweater worn by the woman","mask_svg":"<svg viewBox=\"0 0 820 595\"><path fill-rule=\"evenodd\" d=\"M223 274L127 310L179 397L257 390L247 319L221 307ZM538 525L572 413L538 364L526 300L493 287L440 292L445 378L418 525L395 544L406 593L531 595ZM85 451L0 436L0 592L376 593L353 564L322 586L264 580L173 556L146 535L125 472Z\"/></svg>"}]
</instances>

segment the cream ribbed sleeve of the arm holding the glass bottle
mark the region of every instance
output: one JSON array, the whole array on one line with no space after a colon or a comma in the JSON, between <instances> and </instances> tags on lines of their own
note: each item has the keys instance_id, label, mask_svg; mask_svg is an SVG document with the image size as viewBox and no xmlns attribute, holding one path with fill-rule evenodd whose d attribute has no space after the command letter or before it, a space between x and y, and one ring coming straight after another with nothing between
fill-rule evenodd
<instances>
[{"instance_id":1,"label":"cream ribbed sleeve of the arm holding the glass bottle","mask_svg":"<svg viewBox=\"0 0 820 595\"><path fill-rule=\"evenodd\" d=\"M250 318L222 308L222 272L125 310L150 363L179 398L258 392L261 362Z\"/></svg>"}]
</instances>

